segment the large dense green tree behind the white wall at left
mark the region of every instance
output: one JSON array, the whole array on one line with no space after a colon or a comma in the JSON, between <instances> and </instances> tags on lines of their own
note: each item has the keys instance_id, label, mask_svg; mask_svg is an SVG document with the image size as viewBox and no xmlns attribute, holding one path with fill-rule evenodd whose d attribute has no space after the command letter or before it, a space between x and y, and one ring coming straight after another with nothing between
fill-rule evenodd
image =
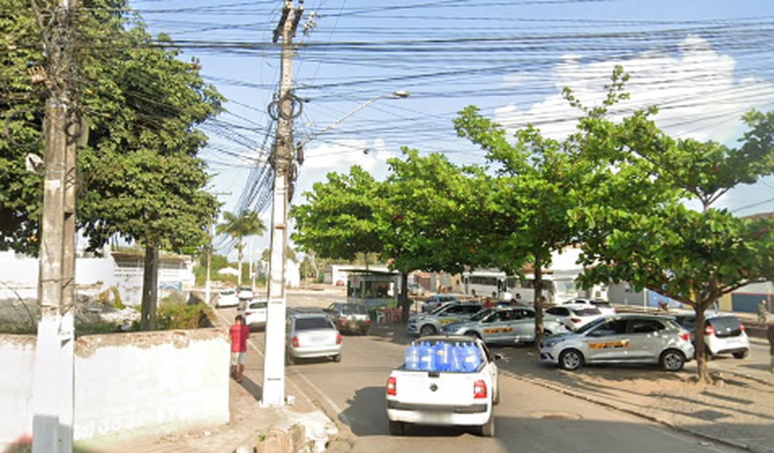
<instances>
[{"instance_id":1,"label":"large dense green tree behind the white wall at left","mask_svg":"<svg viewBox=\"0 0 774 453\"><path fill-rule=\"evenodd\" d=\"M13 0L15 1L15 0ZM46 3L53 8L53 4ZM10 8L10 7L9 7ZM19 4L24 32L5 33L12 22L0 22L2 39L9 39L5 63L15 63L3 73L5 95L34 94L36 86L24 80L20 58L46 66L43 39L48 11L36 19L26 4ZM83 144L78 153L79 193L77 221L98 250L111 236L120 235L146 247L146 287L143 291L144 327L155 318L155 275L159 248L182 250L200 245L208 220L216 212L214 197L204 192L208 176L197 152L206 136L197 130L221 111L221 96L201 80L197 64L183 63L180 51L166 36L151 39L139 17L122 0L87 0L72 9L77 31L68 40L74 70L66 74L77 87L71 98L72 124L83 118L88 129L73 126L72 138ZM10 25L9 25L10 24ZM25 25L26 24L26 25ZM26 49L16 53L16 49ZM6 67L4 65L4 67ZM6 79L5 77L8 77ZM26 96L26 97L25 97ZM13 137L31 138L39 130L39 99L25 95L26 114L5 110ZM15 111L19 106L14 105ZM29 107L29 108L28 108ZM42 184L24 175L24 156L8 137L0 140L2 156L12 162L0 179L15 181L0 188L0 209L9 222L2 223L2 247L36 253ZM36 149L42 152L40 145ZM29 152L29 151L26 151ZM21 162L21 163L19 163ZM9 200L15 200L9 203ZM5 213L9 213L6 217Z\"/></svg>"}]
</instances>

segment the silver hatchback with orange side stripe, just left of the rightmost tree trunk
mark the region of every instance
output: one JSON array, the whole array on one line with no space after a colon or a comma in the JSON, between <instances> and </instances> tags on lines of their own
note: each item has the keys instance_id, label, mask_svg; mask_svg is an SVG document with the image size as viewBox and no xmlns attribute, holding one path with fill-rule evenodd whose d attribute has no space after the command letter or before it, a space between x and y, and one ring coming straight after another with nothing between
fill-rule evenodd
<instances>
[{"instance_id":1,"label":"silver hatchback with orange side stripe, just left of the rightmost tree trunk","mask_svg":"<svg viewBox=\"0 0 774 453\"><path fill-rule=\"evenodd\" d=\"M664 370L679 371L693 357L690 334L673 318L634 313L597 318L540 345L540 360L564 370L587 363L658 363Z\"/></svg>"}]
</instances>

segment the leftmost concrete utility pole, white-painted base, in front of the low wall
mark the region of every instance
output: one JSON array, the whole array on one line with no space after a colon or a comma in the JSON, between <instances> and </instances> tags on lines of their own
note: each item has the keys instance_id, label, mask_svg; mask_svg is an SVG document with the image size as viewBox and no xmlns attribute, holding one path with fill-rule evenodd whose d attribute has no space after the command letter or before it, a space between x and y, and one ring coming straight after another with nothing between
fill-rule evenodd
<instances>
[{"instance_id":1,"label":"leftmost concrete utility pole, white-painted base, in front of the low wall","mask_svg":"<svg viewBox=\"0 0 774 453\"><path fill-rule=\"evenodd\" d=\"M60 0L48 51L44 130L43 218L40 223L40 319L33 381L33 452L72 451L74 393L75 162L80 120L73 107L71 8ZM43 30L46 33L46 30ZM46 36L48 38L48 36ZM82 133L82 131L80 131ZM64 314L64 315L63 315Z\"/></svg>"}]
</instances>

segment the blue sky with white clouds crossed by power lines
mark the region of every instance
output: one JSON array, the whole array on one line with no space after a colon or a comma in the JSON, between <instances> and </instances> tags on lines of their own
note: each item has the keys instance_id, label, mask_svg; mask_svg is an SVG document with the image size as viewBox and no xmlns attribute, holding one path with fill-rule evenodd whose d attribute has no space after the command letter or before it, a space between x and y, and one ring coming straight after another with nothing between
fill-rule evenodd
<instances>
[{"instance_id":1,"label":"blue sky with white clouds crossed by power lines","mask_svg":"<svg viewBox=\"0 0 774 453\"><path fill-rule=\"evenodd\" d=\"M230 100L206 131L203 153L224 209L266 204L266 113L279 85L272 31L281 0L132 2L156 35L196 56ZM298 5L298 0L296 0ZM373 97L380 99L306 147L294 203L330 171L358 164L385 175L401 146L452 161L483 155L451 121L470 104L508 128L536 124L561 138L577 113L560 99L570 86L591 104L612 67L632 73L630 103L656 104L659 125L681 137L734 145L739 118L774 100L774 2L770 0L307 0L295 43L294 92L305 100L294 124L304 140ZM774 179L735 190L719 206L745 215L774 210ZM751 206L747 209L745 206ZM268 247L267 237L255 250ZM221 244L225 247L227 244Z\"/></svg>"}]
</instances>

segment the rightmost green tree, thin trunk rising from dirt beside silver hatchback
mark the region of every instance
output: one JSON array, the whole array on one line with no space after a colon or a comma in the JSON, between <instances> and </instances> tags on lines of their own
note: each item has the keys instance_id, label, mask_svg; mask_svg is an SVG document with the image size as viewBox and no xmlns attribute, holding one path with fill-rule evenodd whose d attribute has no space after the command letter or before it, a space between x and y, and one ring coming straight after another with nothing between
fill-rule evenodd
<instances>
[{"instance_id":1,"label":"rightmost green tree, thin trunk rising from dirt beside silver hatchback","mask_svg":"<svg viewBox=\"0 0 774 453\"><path fill-rule=\"evenodd\" d=\"M611 92L622 90L620 68L613 81ZM567 98L580 105L569 91ZM746 114L749 130L738 148L728 148L670 138L652 120L656 108L618 122L606 108L587 113L580 122L584 152L607 162L608 172L574 209L585 230L584 280L628 281L694 308L697 377L711 382L704 311L722 295L774 276L774 221L738 218L713 204L774 172L774 114Z\"/></svg>"}]
</instances>

